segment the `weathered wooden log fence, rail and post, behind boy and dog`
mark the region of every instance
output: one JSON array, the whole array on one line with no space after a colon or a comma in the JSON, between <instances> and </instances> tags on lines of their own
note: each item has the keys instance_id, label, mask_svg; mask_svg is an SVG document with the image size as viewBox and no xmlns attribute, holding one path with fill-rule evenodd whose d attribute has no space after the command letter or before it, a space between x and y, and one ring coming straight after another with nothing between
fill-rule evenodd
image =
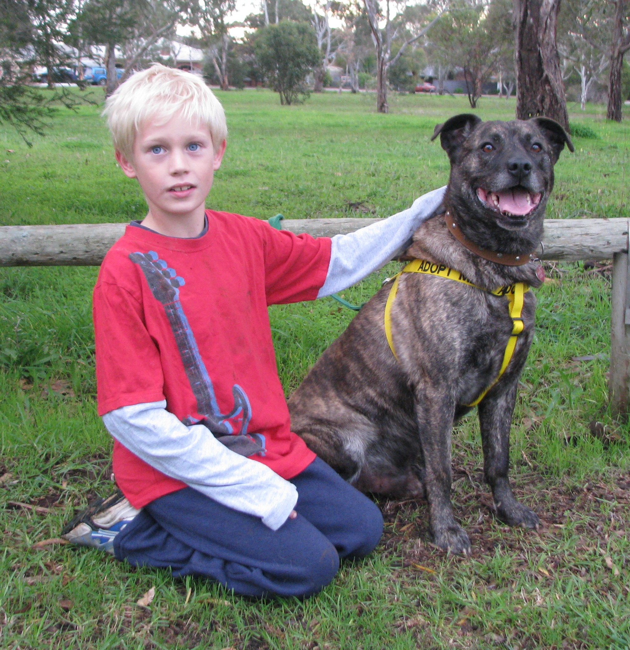
<instances>
[{"instance_id":1,"label":"weathered wooden log fence, rail and post, behind boy and dog","mask_svg":"<svg viewBox=\"0 0 630 650\"><path fill-rule=\"evenodd\" d=\"M350 233L378 219L287 219L282 227L313 237ZM545 219L541 259L611 259L609 393L613 413L630 410L630 267L627 218ZM125 224L0 227L0 266L98 266Z\"/></svg>"}]
</instances>

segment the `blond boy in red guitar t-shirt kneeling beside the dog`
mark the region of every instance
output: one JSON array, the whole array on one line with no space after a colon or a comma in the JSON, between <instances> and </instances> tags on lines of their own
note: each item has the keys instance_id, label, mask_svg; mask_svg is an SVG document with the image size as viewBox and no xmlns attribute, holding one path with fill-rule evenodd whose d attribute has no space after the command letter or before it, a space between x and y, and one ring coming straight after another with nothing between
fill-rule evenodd
<instances>
[{"instance_id":1,"label":"blond boy in red guitar t-shirt kneeling beside the dog","mask_svg":"<svg viewBox=\"0 0 630 650\"><path fill-rule=\"evenodd\" d=\"M289 428L267 305L313 300L382 266L443 190L352 235L276 231L205 210L226 147L202 79L154 65L107 100L125 175L149 206L94 288L98 410L122 493L63 534L237 593L307 597L371 552L378 508Z\"/></svg>"}]
</instances>

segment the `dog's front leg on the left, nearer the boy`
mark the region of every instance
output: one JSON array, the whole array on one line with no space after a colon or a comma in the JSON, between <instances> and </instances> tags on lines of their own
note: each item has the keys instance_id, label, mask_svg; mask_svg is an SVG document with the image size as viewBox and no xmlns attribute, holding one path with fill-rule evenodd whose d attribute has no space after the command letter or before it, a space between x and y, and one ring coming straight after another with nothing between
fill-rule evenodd
<instances>
[{"instance_id":1,"label":"dog's front leg on the left, nearer the boy","mask_svg":"<svg viewBox=\"0 0 630 650\"><path fill-rule=\"evenodd\" d=\"M445 551L468 553L466 531L453 515L451 506L451 427L455 410L445 391L416 393L418 430L425 460L425 492L430 508L434 543Z\"/></svg>"}]
</instances>

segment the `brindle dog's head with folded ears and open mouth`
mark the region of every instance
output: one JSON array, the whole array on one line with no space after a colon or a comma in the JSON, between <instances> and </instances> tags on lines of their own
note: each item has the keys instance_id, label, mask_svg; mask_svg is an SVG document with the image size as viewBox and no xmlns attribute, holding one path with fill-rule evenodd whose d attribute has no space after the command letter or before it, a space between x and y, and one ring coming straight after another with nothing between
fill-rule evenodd
<instances>
[{"instance_id":1,"label":"brindle dog's head with folded ears and open mouth","mask_svg":"<svg viewBox=\"0 0 630 650\"><path fill-rule=\"evenodd\" d=\"M434 140L451 161L449 199L484 230L534 235L542 229L553 166L571 138L554 120L482 122L472 114L438 124ZM516 235L516 232L514 233Z\"/></svg>"}]
</instances>

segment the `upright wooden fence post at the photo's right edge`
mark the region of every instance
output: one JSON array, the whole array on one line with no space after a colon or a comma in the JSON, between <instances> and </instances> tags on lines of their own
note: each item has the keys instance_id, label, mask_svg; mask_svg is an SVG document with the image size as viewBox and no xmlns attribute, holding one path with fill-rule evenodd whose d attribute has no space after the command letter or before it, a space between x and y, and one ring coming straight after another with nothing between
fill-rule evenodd
<instances>
[{"instance_id":1,"label":"upright wooden fence post at the photo's right edge","mask_svg":"<svg viewBox=\"0 0 630 650\"><path fill-rule=\"evenodd\" d=\"M630 398L630 265L628 253L612 258L610 298L610 374L608 390L613 415L627 417Z\"/></svg>"}]
</instances>

